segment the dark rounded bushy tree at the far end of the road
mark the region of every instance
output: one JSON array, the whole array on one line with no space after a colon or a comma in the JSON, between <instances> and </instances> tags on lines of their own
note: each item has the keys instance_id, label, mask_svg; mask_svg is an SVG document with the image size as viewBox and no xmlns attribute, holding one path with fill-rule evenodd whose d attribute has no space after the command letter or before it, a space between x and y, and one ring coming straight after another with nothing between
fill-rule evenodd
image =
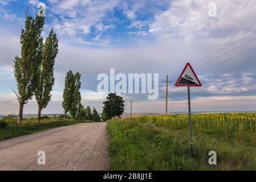
<instances>
[{"instance_id":1,"label":"dark rounded bushy tree at the far end of the road","mask_svg":"<svg viewBox=\"0 0 256 182\"><path fill-rule=\"evenodd\" d=\"M117 96L116 93L109 93L107 101L103 102L104 119L120 117L124 113L123 97Z\"/></svg>"}]
</instances>

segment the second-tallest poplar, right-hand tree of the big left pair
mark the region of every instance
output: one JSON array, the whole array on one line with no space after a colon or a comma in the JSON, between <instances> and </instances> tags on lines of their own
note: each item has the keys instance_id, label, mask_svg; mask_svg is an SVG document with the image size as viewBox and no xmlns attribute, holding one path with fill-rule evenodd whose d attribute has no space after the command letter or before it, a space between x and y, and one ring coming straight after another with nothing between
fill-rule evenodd
<instances>
[{"instance_id":1,"label":"second-tallest poplar, right-hand tree of the big left pair","mask_svg":"<svg viewBox=\"0 0 256 182\"><path fill-rule=\"evenodd\" d=\"M51 91L54 86L54 64L58 54L58 39L53 30L44 43L42 64L39 69L38 84L35 89L35 98L38 103L38 122L40 122L41 111L51 101Z\"/></svg>"}]
</instances>

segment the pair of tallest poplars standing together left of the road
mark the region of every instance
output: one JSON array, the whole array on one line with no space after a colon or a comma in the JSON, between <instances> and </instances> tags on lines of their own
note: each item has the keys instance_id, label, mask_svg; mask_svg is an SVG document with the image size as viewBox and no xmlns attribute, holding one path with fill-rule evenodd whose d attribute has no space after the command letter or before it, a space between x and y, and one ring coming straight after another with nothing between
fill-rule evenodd
<instances>
[{"instance_id":1,"label":"pair of tallest poplars standing together left of the road","mask_svg":"<svg viewBox=\"0 0 256 182\"><path fill-rule=\"evenodd\" d=\"M32 96L38 104L38 121L41 111L51 100L54 86L54 64L58 54L58 39L54 31L50 31L43 42L42 31L44 17L26 15L25 28L21 30L21 56L14 61L14 75L18 91L14 93L19 102L18 123L22 122L23 106Z\"/></svg>"}]
</instances>

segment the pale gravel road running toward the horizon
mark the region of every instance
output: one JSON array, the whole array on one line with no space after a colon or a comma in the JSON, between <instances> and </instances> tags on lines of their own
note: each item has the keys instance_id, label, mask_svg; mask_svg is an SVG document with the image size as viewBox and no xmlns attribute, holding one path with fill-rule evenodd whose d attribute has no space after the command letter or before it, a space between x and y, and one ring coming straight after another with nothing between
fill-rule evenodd
<instances>
[{"instance_id":1,"label":"pale gravel road running toward the horizon","mask_svg":"<svg viewBox=\"0 0 256 182\"><path fill-rule=\"evenodd\" d=\"M106 123L80 123L0 142L0 170L108 170ZM46 164L38 164L38 151Z\"/></svg>"}]
</instances>

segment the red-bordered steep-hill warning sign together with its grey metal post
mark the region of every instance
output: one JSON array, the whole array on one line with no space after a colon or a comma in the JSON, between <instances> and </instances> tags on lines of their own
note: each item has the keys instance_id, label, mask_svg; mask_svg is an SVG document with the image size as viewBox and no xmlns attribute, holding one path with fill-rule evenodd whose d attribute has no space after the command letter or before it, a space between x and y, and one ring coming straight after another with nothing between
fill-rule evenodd
<instances>
[{"instance_id":1,"label":"red-bordered steep-hill warning sign together with its grey metal post","mask_svg":"<svg viewBox=\"0 0 256 182\"><path fill-rule=\"evenodd\" d=\"M198 80L196 73L194 72L191 65L186 64L180 77L175 86L188 86L188 109L189 109L189 143L190 143L190 154L193 155L193 141L192 141L192 121L191 121L191 106L190 106L190 86L202 86Z\"/></svg>"}]
</instances>

